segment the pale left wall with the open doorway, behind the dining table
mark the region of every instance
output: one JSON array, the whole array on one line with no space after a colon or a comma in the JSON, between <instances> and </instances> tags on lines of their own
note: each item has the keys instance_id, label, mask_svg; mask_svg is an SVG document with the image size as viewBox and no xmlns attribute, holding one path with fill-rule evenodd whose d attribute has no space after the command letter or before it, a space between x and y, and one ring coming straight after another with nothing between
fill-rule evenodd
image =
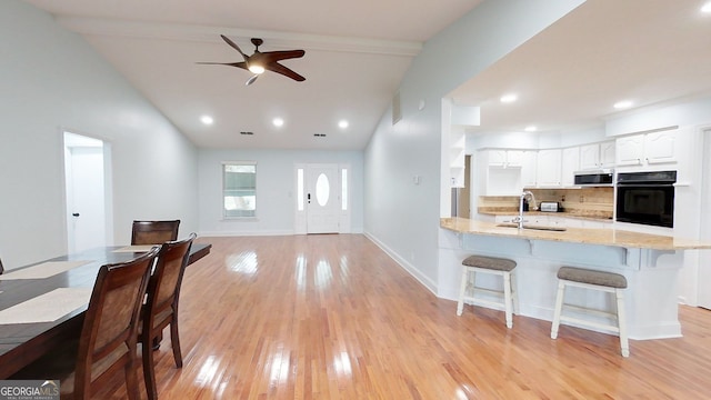
<instances>
[{"instance_id":1,"label":"pale left wall with the open doorway, behind the dining table","mask_svg":"<svg viewBox=\"0 0 711 400\"><path fill-rule=\"evenodd\" d=\"M180 218L197 230L197 150L80 36L0 2L0 256L6 268L67 251L62 128L111 143L113 227Z\"/></svg>"}]
</instances>

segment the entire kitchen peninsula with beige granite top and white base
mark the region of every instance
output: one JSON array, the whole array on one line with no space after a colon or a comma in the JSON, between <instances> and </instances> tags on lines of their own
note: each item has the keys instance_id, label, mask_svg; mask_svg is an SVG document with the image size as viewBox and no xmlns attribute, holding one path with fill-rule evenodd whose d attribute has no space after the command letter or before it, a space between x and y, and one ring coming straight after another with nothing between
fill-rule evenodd
<instances>
[{"instance_id":1,"label":"entire kitchen peninsula with beige granite top and white base","mask_svg":"<svg viewBox=\"0 0 711 400\"><path fill-rule=\"evenodd\" d=\"M440 227L453 259L479 253L517 261L515 290L521 316L552 320L555 274L562 266L623 274L628 280L629 337L637 340L681 336L677 284L684 250L711 249L711 243L698 240L613 228L518 229L465 218L442 218ZM482 283L492 288L500 284L493 279L482 279ZM571 290L567 301L584 307L613 308L612 299L603 294Z\"/></svg>"}]
</instances>

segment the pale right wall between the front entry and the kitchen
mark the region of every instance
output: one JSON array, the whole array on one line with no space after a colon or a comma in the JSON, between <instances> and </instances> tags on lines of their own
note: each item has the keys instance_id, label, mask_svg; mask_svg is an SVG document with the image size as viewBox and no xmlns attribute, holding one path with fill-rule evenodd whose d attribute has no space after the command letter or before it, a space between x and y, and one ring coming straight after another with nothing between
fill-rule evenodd
<instances>
[{"instance_id":1,"label":"pale right wall between the front entry and the kitchen","mask_svg":"<svg viewBox=\"0 0 711 400\"><path fill-rule=\"evenodd\" d=\"M582 2L483 1L424 44L400 86L403 119L393 127L388 110L378 126L365 150L365 232L433 292L459 273L438 244L440 201L450 200L442 97Z\"/></svg>"}]
</instances>

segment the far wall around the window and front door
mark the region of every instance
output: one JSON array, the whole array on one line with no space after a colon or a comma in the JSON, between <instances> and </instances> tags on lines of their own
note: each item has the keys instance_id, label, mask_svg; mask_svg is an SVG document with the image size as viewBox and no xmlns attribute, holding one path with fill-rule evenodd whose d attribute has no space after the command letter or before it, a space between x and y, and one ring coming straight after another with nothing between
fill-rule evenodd
<instances>
[{"instance_id":1,"label":"far wall around the window and front door","mask_svg":"<svg viewBox=\"0 0 711 400\"><path fill-rule=\"evenodd\" d=\"M257 162L257 218L222 218L222 162ZM351 232L363 231L361 151L216 150L199 151L200 231L211 236L293 234L297 163L350 164Z\"/></svg>"}]
</instances>

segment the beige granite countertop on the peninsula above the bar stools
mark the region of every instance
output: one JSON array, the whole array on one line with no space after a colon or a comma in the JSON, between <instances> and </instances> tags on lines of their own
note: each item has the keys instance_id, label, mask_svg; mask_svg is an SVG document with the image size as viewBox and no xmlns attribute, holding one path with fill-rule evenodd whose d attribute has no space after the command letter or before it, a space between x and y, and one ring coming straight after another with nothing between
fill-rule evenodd
<instances>
[{"instance_id":1,"label":"beige granite countertop on the peninsula above the bar stools","mask_svg":"<svg viewBox=\"0 0 711 400\"><path fill-rule=\"evenodd\" d=\"M711 242L670 236L650 234L620 229L567 228L564 231L518 229L500 227L494 222L470 220L467 218L442 218L440 228L458 233L499 236L529 240L550 240L570 243L602 244L621 248L654 250L711 249Z\"/></svg>"}]
</instances>

